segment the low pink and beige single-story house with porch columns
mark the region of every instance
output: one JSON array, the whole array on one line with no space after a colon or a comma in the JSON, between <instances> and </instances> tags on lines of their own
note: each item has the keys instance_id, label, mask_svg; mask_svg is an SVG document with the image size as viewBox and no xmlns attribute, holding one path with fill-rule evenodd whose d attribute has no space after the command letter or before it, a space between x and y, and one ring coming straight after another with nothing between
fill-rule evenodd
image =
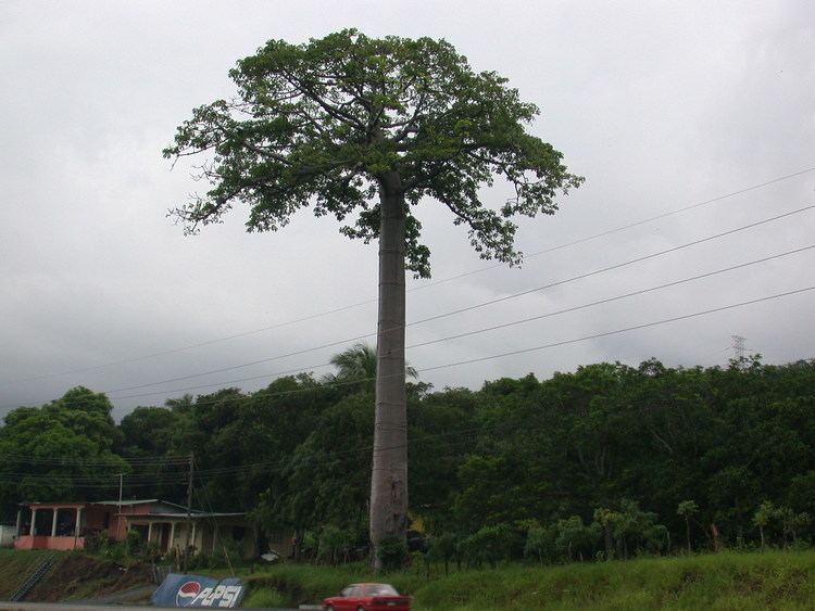
<instances>
[{"instance_id":1,"label":"low pink and beige single-story house with porch columns","mask_svg":"<svg viewBox=\"0 0 815 611\"><path fill-rule=\"evenodd\" d=\"M242 556L252 558L263 553L259 533L243 513L204 512L160 499L106 500L96 502L24 502L17 511L16 549L83 549L88 535L106 531L117 542L125 540L128 531L136 531L141 539L154 544L162 553L183 550L187 543L193 553L206 555L217 550L218 542L227 537L240 542ZM290 537L285 532L265 534L267 547L281 556L291 552ZM266 547L264 545L263 547Z\"/></svg>"}]
</instances>

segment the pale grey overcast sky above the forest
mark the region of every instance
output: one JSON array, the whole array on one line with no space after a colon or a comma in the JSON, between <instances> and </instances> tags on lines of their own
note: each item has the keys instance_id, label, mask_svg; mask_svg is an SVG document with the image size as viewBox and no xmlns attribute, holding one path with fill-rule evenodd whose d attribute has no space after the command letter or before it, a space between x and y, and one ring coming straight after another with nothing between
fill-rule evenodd
<instances>
[{"instance_id":1,"label":"pale grey overcast sky above the forest","mask_svg":"<svg viewBox=\"0 0 815 611\"><path fill-rule=\"evenodd\" d=\"M253 391L328 371L376 328L376 246L298 214L246 233L237 206L185 238L166 218L196 184L161 150L227 72L271 38L355 27L446 38L542 114L530 127L585 186L522 224L527 254L815 167L815 12L799 2L0 2L0 413L83 384L116 415L185 392ZM501 202L497 188L487 203ZM490 267L437 202L421 204L434 279L418 320L670 249L815 203L815 171L594 240ZM815 244L815 209L639 264L411 326L408 343L511 322ZM417 369L576 340L815 284L815 250L500 331L409 351ZM366 302L331 315L342 306ZM815 291L422 374L437 389L656 357L725 365L732 334L767 362L812 358ZM287 324L283 324L287 323ZM265 329L262 330L261 329ZM256 331L256 332L254 332ZM251 332L251 333L249 333ZM227 336L241 335L221 341ZM372 343L374 339L369 340ZM349 342L350 345L352 342ZM189 347L197 344L197 347ZM186 349L178 349L186 348ZM164 353L155 356L159 353ZM152 356L151 356L152 355ZM261 359L250 367L186 378ZM174 382L153 384L183 378ZM252 380L236 381L253 378ZM203 386L206 384L208 386ZM193 387L201 386L201 387Z\"/></svg>"}]
</instances>

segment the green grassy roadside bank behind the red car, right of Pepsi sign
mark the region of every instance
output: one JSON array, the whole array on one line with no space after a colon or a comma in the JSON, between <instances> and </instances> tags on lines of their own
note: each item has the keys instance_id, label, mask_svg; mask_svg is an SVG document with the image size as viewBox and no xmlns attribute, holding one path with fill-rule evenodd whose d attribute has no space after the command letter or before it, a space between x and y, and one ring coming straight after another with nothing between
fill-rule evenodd
<instances>
[{"instance_id":1,"label":"green grassy roadside bank behind the red car, right of Pepsi sign","mask_svg":"<svg viewBox=\"0 0 815 611\"><path fill-rule=\"evenodd\" d=\"M281 565L247 576L247 607L265 600L316 602L346 584L372 580L363 568ZM463 571L425 581L383 581L414 597L414 609L812 609L815 551L726 552L628 562Z\"/></svg>"}]
</instances>

